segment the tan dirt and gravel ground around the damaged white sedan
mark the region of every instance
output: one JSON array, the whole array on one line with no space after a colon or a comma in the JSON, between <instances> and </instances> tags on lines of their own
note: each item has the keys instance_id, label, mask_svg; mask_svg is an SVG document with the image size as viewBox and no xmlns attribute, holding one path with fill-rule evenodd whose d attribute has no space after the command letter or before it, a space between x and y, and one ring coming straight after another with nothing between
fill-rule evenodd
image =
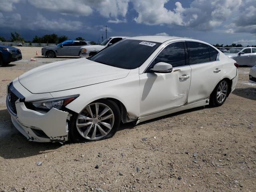
<instances>
[{"instance_id":1,"label":"tan dirt and gravel ground around the damaged white sedan","mask_svg":"<svg viewBox=\"0 0 256 192\"><path fill-rule=\"evenodd\" d=\"M21 49L23 60L0 68L0 191L256 191L256 84L248 83L250 68L239 68L236 90L218 108L121 125L108 140L34 143L10 122L6 85L31 68L70 58L35 57L36 48ZM31 57L38 62L28 62Z\"/></svg>"}]
</instances>

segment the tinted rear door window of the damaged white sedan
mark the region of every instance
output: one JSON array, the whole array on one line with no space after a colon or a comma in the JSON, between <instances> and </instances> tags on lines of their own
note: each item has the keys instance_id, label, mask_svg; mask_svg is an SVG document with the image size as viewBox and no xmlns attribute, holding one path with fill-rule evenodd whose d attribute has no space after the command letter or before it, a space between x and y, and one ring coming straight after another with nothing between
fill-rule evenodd
<instances>
[{"instance_id":1,"label":"tinted rear door window of the damaged white sedan","mask_svg":"<svg viewBox=\"0 0 256 192\"><path fill-rule=\"evenodd\" d=\"M199 42L187 42L190 64L210 62L208 45Z\"/></svg>"}]
</instances>

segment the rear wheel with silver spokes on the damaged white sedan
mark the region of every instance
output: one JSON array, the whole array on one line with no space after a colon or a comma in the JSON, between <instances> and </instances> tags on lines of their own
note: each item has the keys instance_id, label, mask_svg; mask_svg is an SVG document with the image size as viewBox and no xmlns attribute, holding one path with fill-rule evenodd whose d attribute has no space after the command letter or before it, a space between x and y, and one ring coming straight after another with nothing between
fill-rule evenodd
<instances>
[{"instance_id":1,"label":"rear wheel with silver spokes on the damaged white sedan","mask_svg":"<svg viewBox=\"0 0 256 192\"><path fill-rule=\"evenodd\" d=\"M212 107L221 106L228 97L229 84L226 80L220 81L210 95L209 105Z\"/></svg>"}]
</instances>

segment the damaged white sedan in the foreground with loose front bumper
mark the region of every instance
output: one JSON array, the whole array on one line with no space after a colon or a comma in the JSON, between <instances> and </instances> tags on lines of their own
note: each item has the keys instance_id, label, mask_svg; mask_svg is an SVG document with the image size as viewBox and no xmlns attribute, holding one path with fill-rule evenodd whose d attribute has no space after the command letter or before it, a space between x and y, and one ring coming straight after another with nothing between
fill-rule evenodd
<instances>
[{"instance_id":1,"label":"damaged white sedan in the foreground with loose front bumper","mask_svg":"<svg viewBox=\"0 0 256 192\"><path fill-rule=\"evenodd\" d=\"M212 45L167 36L126 38L90 58L46 64L7 86L14 126L30 141L112 137L181 110L222 105L238 65Z\"/></svg>"}]
</instances>

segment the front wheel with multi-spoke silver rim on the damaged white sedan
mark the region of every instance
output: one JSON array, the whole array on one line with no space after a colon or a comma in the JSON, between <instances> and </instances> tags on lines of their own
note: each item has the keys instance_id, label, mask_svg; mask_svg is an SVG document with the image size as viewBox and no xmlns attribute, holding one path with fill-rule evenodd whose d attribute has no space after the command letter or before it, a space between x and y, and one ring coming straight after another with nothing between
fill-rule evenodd
<instances>
[{"instance_id":1,"label":"front wheel with multi-spoke silver rim on the damaged white sedan","mask_svg":"<svg viewBox=\"0 0 256 192\"><path fill-rule=\"evenodd\" d=\"M100 99L88 104L70 123L72 142L97 141L114 136L120 126L120 110L112 100Z\"/></svg>"}]
</instances>

